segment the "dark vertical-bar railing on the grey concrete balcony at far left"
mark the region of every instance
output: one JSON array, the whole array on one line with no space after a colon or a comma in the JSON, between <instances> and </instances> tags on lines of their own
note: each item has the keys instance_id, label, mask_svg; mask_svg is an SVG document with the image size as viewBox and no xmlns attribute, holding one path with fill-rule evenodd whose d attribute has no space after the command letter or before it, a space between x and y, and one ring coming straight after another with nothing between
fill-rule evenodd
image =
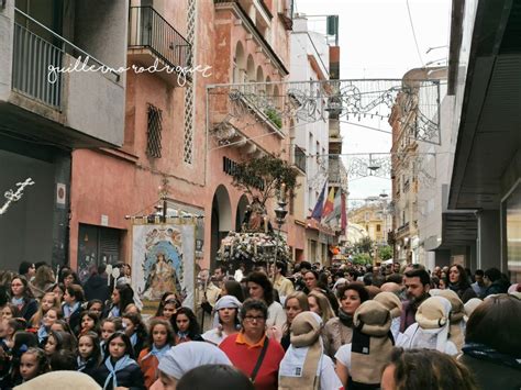
<instances>
[{"instance_id":1,"label":"dark vertical-bar railing on the grey concrete balcony at far left","mask_svg":"<svg viewBox=\"0 0 521 390\"><path fill-rule=\"evenodd\" d=\"M48 82L49 67L62 67L62 49L14 24L12 89L45 104L62 104L62 77Z\"/></svg>"}]
</instances>

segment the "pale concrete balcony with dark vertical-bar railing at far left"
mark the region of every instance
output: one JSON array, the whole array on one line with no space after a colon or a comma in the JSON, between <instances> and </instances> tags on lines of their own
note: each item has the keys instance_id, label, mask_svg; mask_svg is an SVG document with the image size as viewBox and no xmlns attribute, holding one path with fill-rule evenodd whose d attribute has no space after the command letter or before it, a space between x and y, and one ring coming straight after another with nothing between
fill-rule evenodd
<instances>
[{"instance_id":1,"label":"pale concrete balcony with dark vertical-bar railing at far left","mask_svg":"<svg viewBox=\"0 0 521 390\"><path fill-rule=\"evenodd\" d=\"M110 5L107 13L123 9ZM7 20L13 23L13 35L0 57L11 57L12 73L7 73L5 88L0 87L2 130L67 148L121 146L121 75L19 9L12 8Z\"/></svg>"}]
</instances>

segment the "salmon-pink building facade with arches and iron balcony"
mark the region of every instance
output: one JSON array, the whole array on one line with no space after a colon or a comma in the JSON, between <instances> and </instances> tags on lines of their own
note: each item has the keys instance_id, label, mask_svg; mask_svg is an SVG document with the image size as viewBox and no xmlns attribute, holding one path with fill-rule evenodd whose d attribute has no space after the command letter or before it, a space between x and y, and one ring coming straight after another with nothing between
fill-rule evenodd
<instances>
[{"instance_id":1,"label":"salmon-pink building facade with arches and iron balcony","mask_svg":"<svg viewBox=\"0 0 521 390\"><path fill-rule=\"evenodd\" d=\"M156 213L159 188L166 192L167 215L201 216L198 263L214 266L221 239L240 230L251 201L231 185L231 167L280 153L286 124L279 129L262 112L232 118L229 94L211 96L209 86L287 76L285 7L277 1L131 2L128 66L211 69L193 73L187 82L176 73L128 74L122 146L73 154L74 267L129 263L132 222L125 216Z\"/></svg>"}]
</instances>

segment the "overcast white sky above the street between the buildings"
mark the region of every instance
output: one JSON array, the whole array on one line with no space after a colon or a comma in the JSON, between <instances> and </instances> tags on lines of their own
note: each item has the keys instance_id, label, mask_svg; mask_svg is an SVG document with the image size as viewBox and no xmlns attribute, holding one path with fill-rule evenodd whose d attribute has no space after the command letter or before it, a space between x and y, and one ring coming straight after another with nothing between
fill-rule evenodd
<instances>
[{"instance_id":1,"label":"overcast white sky above the street between the buildings","mask_svg":"<svg viewBox=\"0 0 521 390\"><path fill-rule=\"evenodd\" d=\"M410 69L446 64L451 0L296 0L295 12L306 13L309 30L318 32L325 32L325 18L311 16L339 15L341 79L401 79ZM361 124L391 130L386 120ZM391 147L390 134L347 123L341 133L343 154L388 153ZM359 178L348 186L351 200L391 192L390 179Z\"/></svg>"}]
</instances>

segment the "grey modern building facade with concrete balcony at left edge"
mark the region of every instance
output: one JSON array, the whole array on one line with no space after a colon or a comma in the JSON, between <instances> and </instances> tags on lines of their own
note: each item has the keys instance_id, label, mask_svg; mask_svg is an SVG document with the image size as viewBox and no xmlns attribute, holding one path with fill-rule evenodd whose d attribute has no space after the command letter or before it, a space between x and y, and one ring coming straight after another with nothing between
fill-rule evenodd
<instances>
[{"instance_id":1,"label":"grey modern building facade with concrete balcony at left edge","mask_svg":"<svg viewBox=\"0 0 521 390\"><path fill-rule=\"evenodd\" d=\"M124 66L126 15L126 1L0 4L0 188L34 181L0 215L2 268L68 261L71 151L123 144L126 83L58 70Z\"/></svg>"}]
</instances>

